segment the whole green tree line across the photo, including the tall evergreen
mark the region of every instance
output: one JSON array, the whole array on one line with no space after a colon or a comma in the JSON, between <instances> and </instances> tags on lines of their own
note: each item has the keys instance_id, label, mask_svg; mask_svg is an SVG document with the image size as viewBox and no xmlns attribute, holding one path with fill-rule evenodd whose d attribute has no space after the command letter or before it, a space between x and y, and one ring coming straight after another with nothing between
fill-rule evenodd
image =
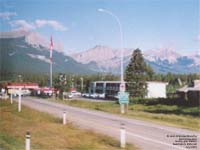
<instances>
[{"instance_id":1,"label":"whole green tree line across the photo, including the tall evergreen","mask_svg":"<svg viewBox=\"0 0 200 150\"><path fill-rule=\"evenodd\" d=\"M200 79L200 74L158 74L155 73L149 64L144 61L140 49L133 51L130 62L125 70L125 81L127 91L131 97L144 97L147 92L146 81L168 82L167 92L173 93L184 85L191 85L194 79ZM68 91L75 87L81 92L88 92L92 81L116 81L120 80L119 75L111 73L97 73L92 75L54 73L53 86L61 91ZM36 82L41 87L49 86L49 73L20 73L1 72L0 83L5 82Z\"/></svg>"}]
</instances>

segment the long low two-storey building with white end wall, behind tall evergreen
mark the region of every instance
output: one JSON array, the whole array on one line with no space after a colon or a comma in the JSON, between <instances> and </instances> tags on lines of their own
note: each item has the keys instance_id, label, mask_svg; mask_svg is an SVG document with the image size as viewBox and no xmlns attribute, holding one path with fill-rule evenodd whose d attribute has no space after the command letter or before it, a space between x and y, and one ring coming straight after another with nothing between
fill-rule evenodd
<instances>
[{"instance_id":1,"label":"long low two-storey building with white end wall, behind tall evergreen","mask_svg":"<svg viewBox=\"0 0 200 150\"><path fill-rule=\"evenodd\" d=\"M90 84L89 94L105 94L106 98L116 98L120 81L95 81ZM166 82L147 82L146 98L166 98Z\"/></svg>"}]
</instances>

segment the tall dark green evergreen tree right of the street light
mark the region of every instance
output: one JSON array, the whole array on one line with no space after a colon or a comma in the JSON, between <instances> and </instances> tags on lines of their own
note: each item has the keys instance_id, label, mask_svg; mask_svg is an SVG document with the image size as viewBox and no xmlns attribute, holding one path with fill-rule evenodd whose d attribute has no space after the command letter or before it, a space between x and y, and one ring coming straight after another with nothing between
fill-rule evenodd
<instances>
[{"instance_id":1,"label":"tall dark green evergreen tree right of the street light","mask_svg":"<svg viewBox=\"0 0 200 150\"><path fill-rule=\"evenodd\" d=\"M125 73L127 91L131 97L144 97L146 95L146 81L149 75L152 76L152 73L153 70L145 63L141 50L134 50Z\"/></svg>"}]
</instances>

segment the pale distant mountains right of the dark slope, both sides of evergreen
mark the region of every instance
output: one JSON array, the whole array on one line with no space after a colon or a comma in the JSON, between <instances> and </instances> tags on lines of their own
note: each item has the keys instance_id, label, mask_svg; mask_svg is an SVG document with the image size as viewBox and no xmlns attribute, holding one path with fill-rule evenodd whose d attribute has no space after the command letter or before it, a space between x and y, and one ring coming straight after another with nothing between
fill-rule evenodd
<instances>
[{"instance_id":1,"label":"pale distant mountains right of the dark slope, both sides of evergreen","mask_svg":"<svg viewBox=\"0 0 200 150\"><path fill-rule=\"evenodd\" d=\"M134 49L124 50L124 66L131 58ZM180 54L171 49L147 50L143 52L145 61L157 73L199 73L200 53ZM107 46L95 46L80 53L71 54L76 61L87 64L95 71L119 73L120 49Z\"/></svg>"}]
</instances>

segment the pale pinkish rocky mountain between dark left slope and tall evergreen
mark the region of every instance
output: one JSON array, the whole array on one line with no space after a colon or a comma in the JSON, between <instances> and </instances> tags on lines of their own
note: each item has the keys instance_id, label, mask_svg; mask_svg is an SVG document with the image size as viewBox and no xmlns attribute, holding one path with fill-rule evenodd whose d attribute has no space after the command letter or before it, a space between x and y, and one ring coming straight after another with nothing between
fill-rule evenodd
<instances>
[{"instance_id":1,"label":"pale pinkish rocky mountain between dark left slope and tall evergreen","mask_svg":"<svg viewBox=\"0 0 200 150\"><path fill-rule=\"evenodd\" d=\"M76 61L88 64L93 70L101 72L115 72L120 65L120 49L97 45L84 52L71 54ZM130 56L130 49L124 50L124 57Z\"/></svg>"}]
</instances>

